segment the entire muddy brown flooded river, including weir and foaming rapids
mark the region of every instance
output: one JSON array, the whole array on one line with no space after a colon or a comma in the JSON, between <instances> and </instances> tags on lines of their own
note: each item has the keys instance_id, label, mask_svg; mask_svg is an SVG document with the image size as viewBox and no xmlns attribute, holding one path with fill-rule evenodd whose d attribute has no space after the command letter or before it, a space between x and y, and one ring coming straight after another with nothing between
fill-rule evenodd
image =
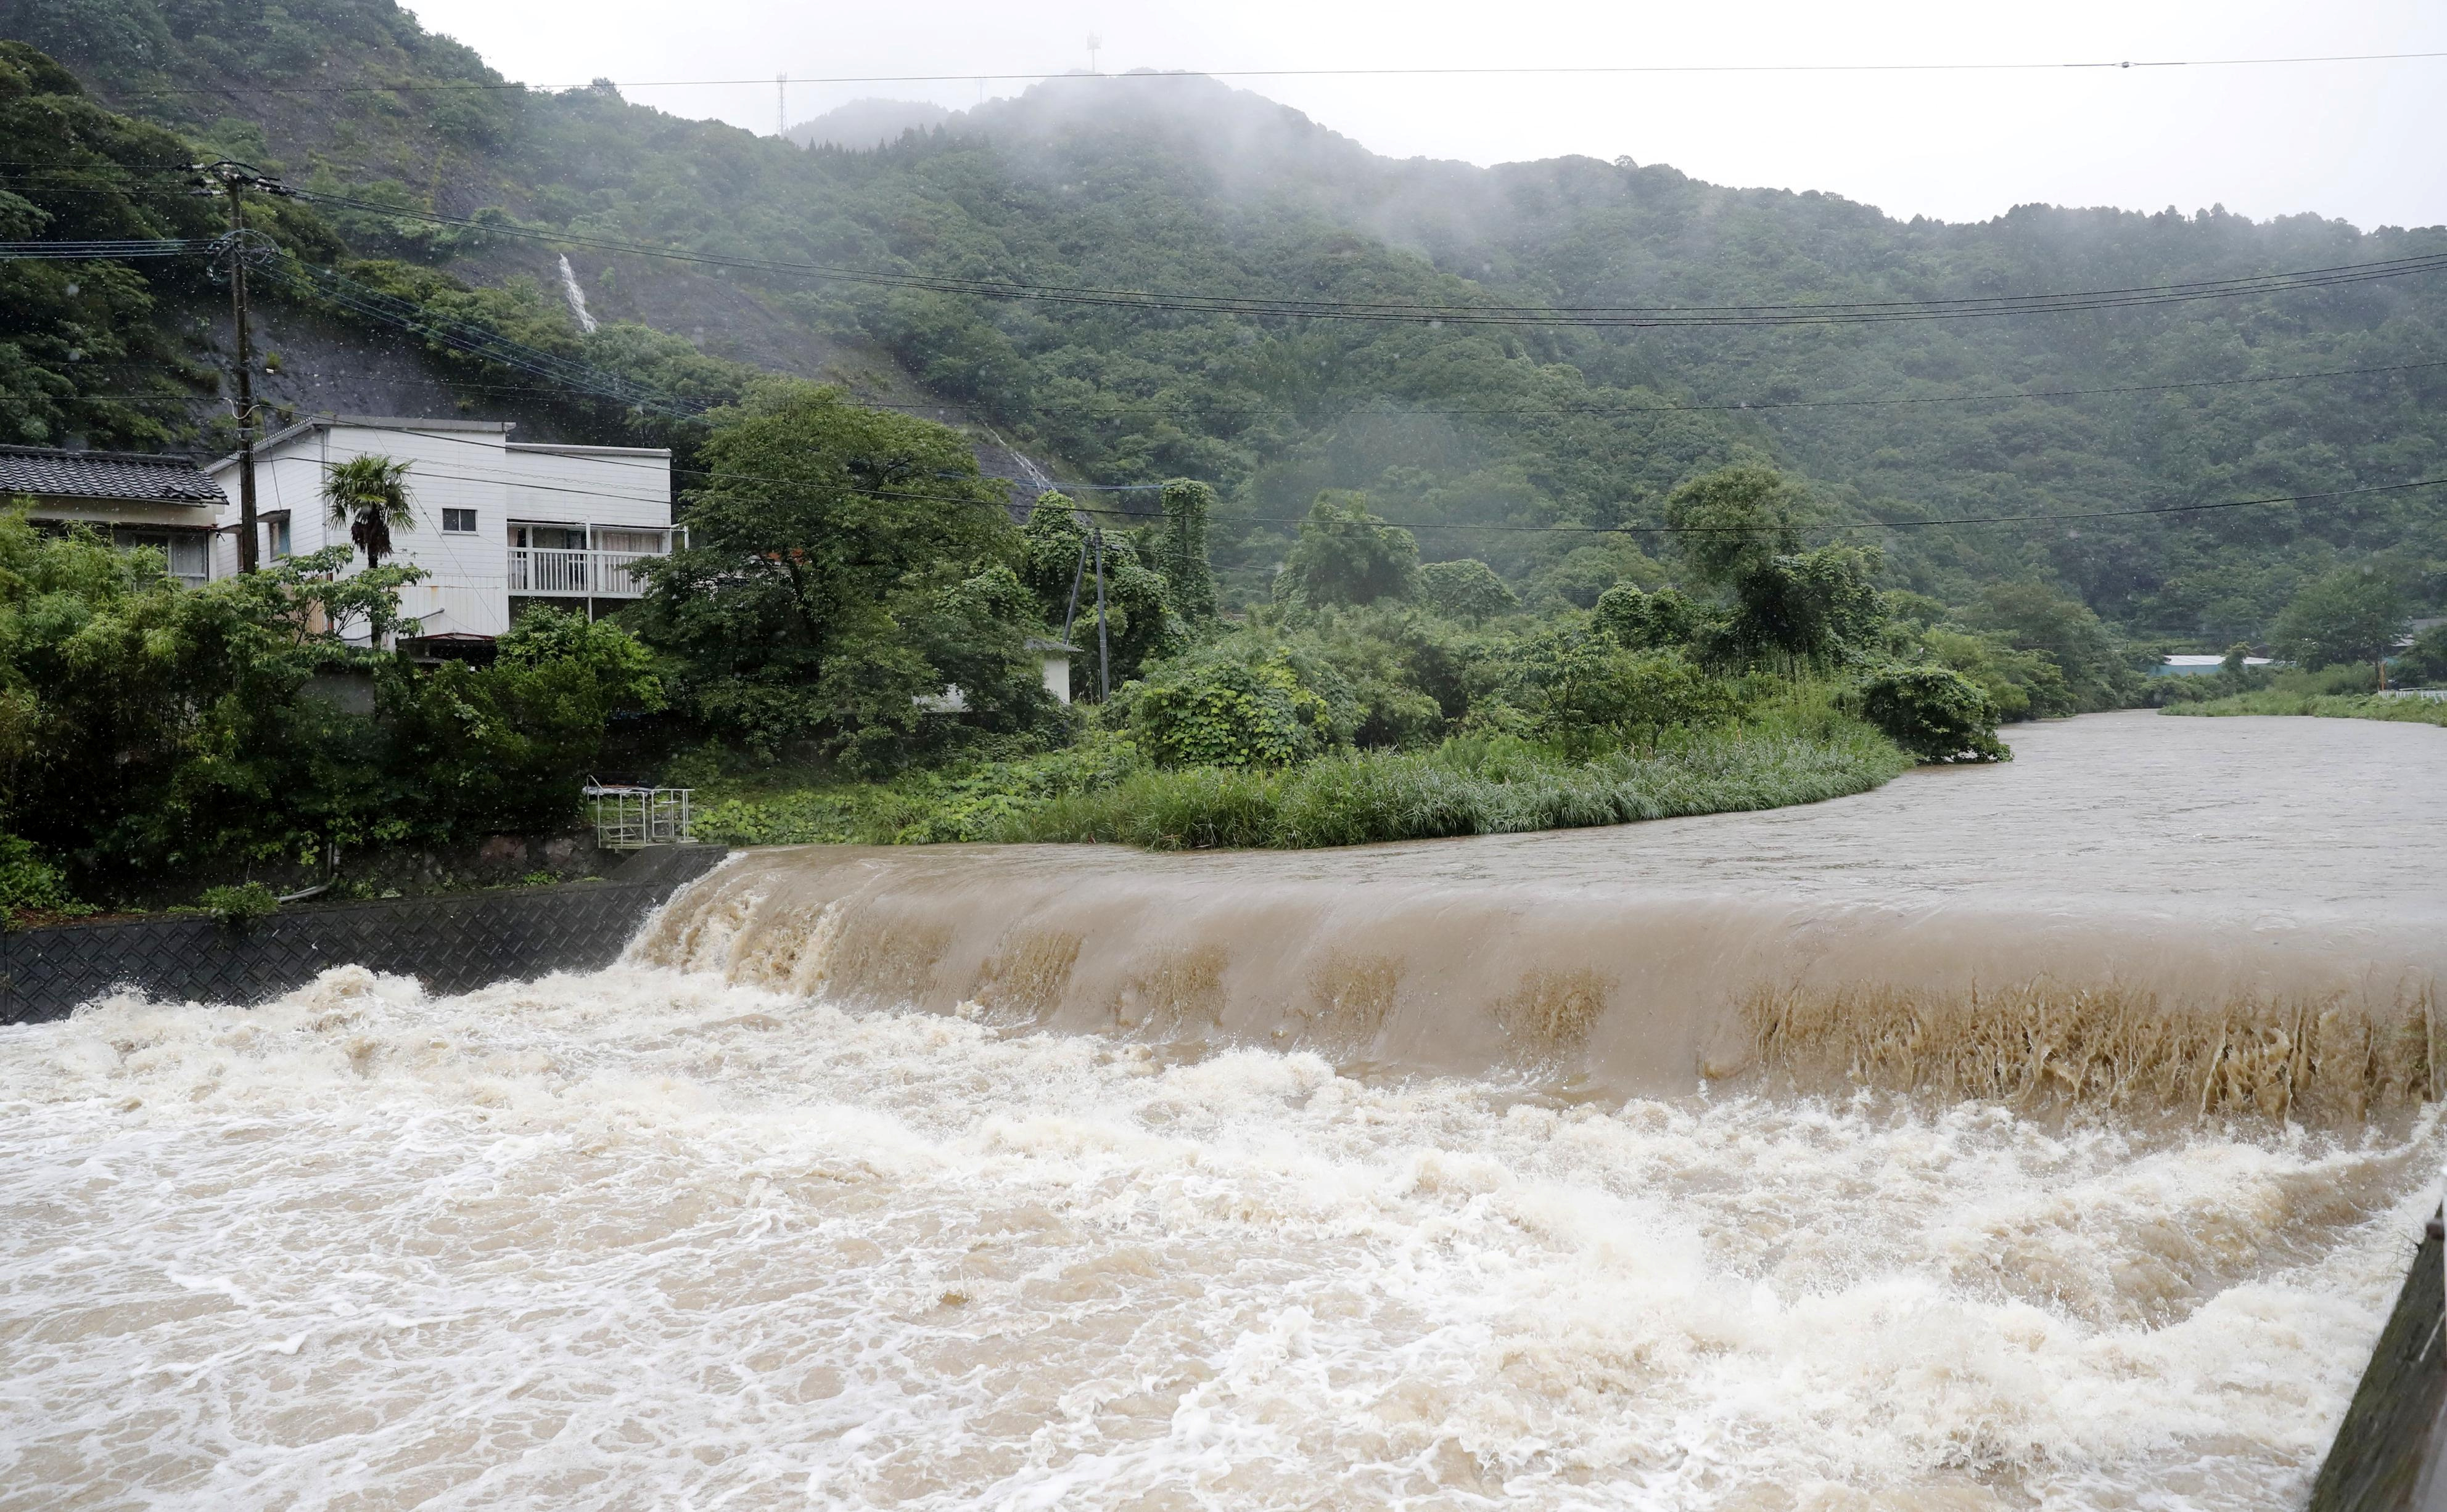
<instances>
[{"instance_id":1,"label":"entire muddy brown flooded river, including weir and foaming rapids","mask_svg":"<svg viewBox=\"0 0 2447 1512\"><path fill-rule=\"evenodd\" d=\"M2437 1201L2447 736L2014 746L0 1030L0 1510L2300 1505Z\"/></svg>"}]
</instances>

